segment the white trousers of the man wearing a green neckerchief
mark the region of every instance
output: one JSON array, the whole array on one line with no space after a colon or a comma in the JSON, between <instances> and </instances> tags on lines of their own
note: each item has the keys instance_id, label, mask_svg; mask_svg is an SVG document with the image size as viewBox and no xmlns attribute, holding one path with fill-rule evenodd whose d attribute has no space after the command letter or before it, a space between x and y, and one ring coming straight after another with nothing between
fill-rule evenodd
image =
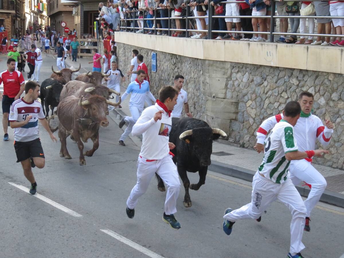
<instances>
[{"instance_id":1,"label":"white trousers of the man wearing a green neckerchief","mask_svg":"<svg viewBox=\"0 0 344 258\"><path fill-rule=\"evenodd\" d=\"M294 185L302 181L312 185L308 198L304 201L307 208L307 217L310 217L312 209L319 202L326 189L325 178L307 160L295 160L290 163L290 179Z\"/></svg>"}]
</instances>

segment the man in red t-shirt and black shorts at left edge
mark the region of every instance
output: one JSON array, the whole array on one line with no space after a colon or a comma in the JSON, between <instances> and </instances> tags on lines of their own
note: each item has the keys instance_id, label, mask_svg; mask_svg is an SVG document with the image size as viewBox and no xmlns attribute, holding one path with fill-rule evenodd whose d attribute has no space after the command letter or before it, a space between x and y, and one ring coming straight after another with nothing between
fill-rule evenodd
<instances>
[{"instance_id":1,"label":"man in red t-shirt and black shorts at left edge","mask_svg":"<svg viewBox=\"0 0 344 258\"><path fill-rule=\"evenodd\" d=\"M14 100L20 98L24 92L25 80L21 72L15 70L15 60L9 58L7 60L7 70L0 73L0 84L3 83L3 94L0 92L0 99L2 100L2 127L3 140L8 141L8 116L10 107Z\"/></svg>"}]
</instances>

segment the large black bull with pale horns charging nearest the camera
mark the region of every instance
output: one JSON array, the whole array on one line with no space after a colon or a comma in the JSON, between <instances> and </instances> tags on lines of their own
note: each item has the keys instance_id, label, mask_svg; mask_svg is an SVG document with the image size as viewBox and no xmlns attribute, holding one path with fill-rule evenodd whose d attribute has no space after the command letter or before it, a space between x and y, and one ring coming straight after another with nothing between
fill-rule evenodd
<instances>
[{"instance_id":1,"label":"large black bull with pale horns charging nearest the camera","mask_svg":"<svg viewBox=\"0 0 344 258\"><path fill-rule=\"evenodd\" d=\"M205 184L208 165L211 163L213 140L220 136L227 137L224 131L209 127L205 121L195 118L172 118L169 141L175 145L172 150L173 162L177 164L178 173L185 188L183 201L185 207L192 206L189 188L197 191L202 184ZM186 171L192 173L198 171L200 180L197 184L190 184ZM158 174L156 176L158 189L164 192L164 182Z\"/></svg>"}]
</instances>

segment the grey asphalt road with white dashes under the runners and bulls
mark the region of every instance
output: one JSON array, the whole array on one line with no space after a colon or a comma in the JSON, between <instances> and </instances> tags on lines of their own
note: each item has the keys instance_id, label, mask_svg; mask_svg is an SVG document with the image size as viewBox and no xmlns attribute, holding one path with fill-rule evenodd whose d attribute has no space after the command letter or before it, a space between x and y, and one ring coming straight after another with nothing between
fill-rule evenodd
<instances>
[{"instance_id":1,"label":"grey asphalt road with white dashes under the runners and bulls","mask_svg":"<svg viewBox=\"0 0 344 258\"><path fill-rule=\"evenodd\" d=\"M41 81L50 76L51 64L56 63L51 57L43 62ZM0 68L5 70L6 62ZM15 162L13 130L9 129L10 141L0 141L0 257L287 257L291 215L282 203L273 203L260 223L239 221L232 235L224 234L225 208L248 203L251 186L214 172L208 173L199 191L190 190L191 208L183 206L181 189L175 214L180 230L161 220L165 193L158 191L155 179L140 198L135 217L129 219L126 200L136 183L139 151L130 139L126 147L119 146L122 130L114 116L109 121L109 127L100 130L94 157L86 157L86 166L79 165L77 146L70 139L67 148L73 159L65 160L59 156L60 143L52 143L40 130L46 165L33 169L37 193L75 213L9 184L30 186ZM88 148L90 141L85 144ZM189 173L189 178L197 182L198 175ZM311 232L303 235L303 256L340 257L344 209L319 204L311 219Z\"/></svg>"}]
</instances>

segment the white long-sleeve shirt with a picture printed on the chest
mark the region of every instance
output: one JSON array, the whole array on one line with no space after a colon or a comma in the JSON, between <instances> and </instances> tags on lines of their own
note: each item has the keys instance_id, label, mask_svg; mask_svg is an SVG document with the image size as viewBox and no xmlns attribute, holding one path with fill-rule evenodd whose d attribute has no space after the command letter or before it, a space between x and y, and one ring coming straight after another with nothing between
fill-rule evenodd
<instances>
[{"instance_id":1,"label":"white long-sleeve shirt with a picture printed on the chest","mask_svg":"<svg viewBox=\"0 0 344 258\"><path fill-rule=\"evenodd\" d=\"M170 152L169 135L172 117L164 111L161 120L155 122L154 115L159 110L163 109L156 103L143 110L131 131L133 136L142 134L140 156L149 160L163 159Z\"/></svg>"}]
</instances>

